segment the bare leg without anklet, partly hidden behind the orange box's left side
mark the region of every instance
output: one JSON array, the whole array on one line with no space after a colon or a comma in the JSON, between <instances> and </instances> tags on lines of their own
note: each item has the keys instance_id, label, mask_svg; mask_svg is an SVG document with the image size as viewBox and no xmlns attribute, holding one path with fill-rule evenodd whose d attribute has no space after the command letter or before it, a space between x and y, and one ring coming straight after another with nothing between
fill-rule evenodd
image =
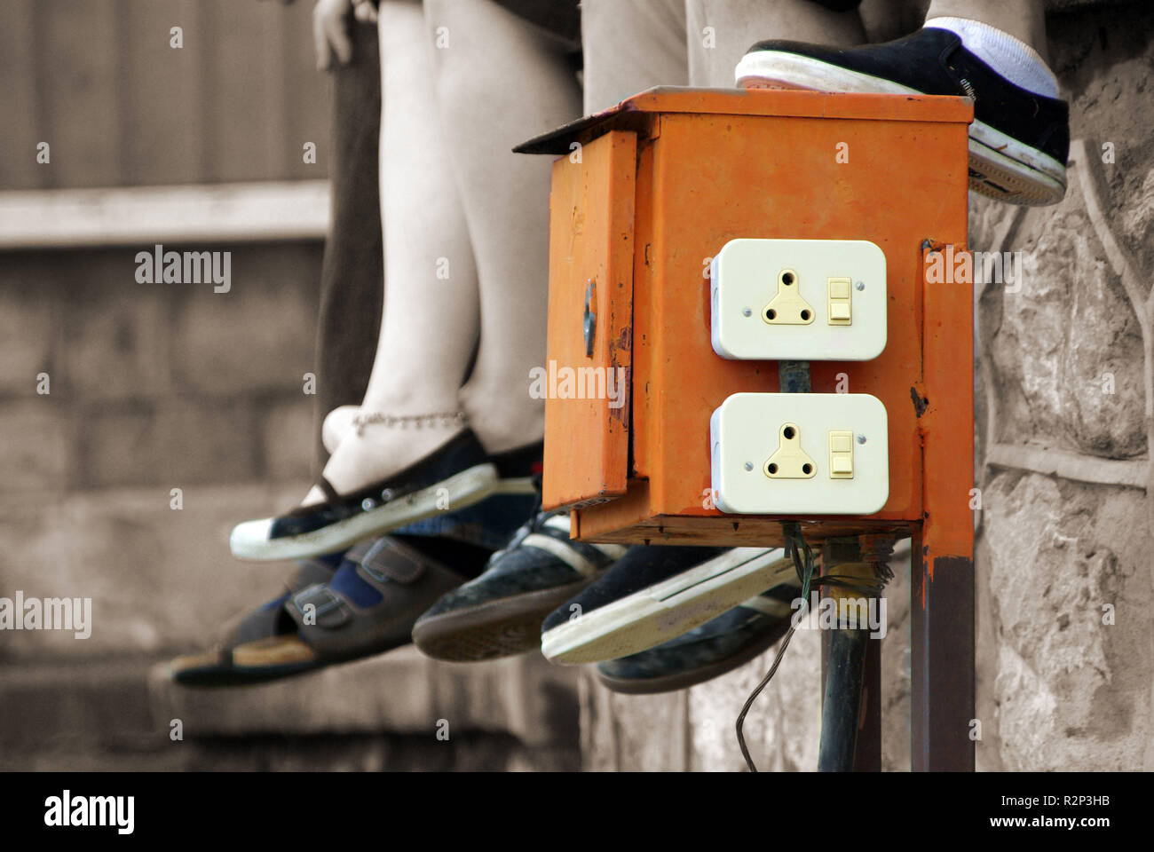
<instances>
[{"instance_id":1,"label":"bare leg without anklet, partly hidden behind the orange box's left side","mask_svg":"<svg viewBox=\"0 0 1154 852\"><path fill-rule=\"evenodd\" d=\"M545 364L549 160L512 147L580 114L562 45L493 0L425 0L449 164L464 201L480 284L481 337L462 404L481 443L539 441Z\"/></svg>"}]
</instances>

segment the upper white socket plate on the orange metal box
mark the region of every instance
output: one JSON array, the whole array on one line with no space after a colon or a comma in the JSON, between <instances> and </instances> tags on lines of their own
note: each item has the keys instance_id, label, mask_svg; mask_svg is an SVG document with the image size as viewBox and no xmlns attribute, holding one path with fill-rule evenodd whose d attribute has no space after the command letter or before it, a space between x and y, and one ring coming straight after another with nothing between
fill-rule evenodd
<instances>
[{"instance_id":1,"label":"upper white socket plate on the orange metal box","mask_svg":"<svg viewBox=\"0 0 1154 852\"><path fill-rule=\"evenodd\" d=\"M808 324L764 317L782 270L796 272ZM849 324L829 322L829 279L849 278ZM710 264L713 351L734 360L868 361L885 349L885 254L869 240L735 239Z\"/></svg>"}]
</instances>

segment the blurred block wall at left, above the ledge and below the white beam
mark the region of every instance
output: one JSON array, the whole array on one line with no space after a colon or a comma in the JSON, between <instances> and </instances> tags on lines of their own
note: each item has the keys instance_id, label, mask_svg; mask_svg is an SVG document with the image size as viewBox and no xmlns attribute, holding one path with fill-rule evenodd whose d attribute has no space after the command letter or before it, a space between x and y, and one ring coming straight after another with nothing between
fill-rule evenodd
<instances>
[{"instance_id":1,"label":"blurred block wall at left, above the ledge and below the white beam","mask_svg":"<svg viewBox=\"0 0 1154 852\"><path fill-rule=\"evenodd\" d=\"M6 634L6 658L201 641L258 570L231 523L308 481L321 247L219 248L228 293L138 284L129 247L0 263L3 585L96 606L89 640Z\"/></svg>"}]
</instances>

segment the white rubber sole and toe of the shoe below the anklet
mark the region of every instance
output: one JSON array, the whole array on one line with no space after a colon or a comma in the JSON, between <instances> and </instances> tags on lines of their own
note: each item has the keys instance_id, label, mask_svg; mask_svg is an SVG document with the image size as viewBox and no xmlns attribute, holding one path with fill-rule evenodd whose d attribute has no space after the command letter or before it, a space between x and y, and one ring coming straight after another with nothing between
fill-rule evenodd
<instances>
[{"instance_id":1,"label":"white rubber sole and toe of the shoe below the anklet","mask_svg":"<svg viewBox=\"0 0 1154 852\"><path fill-rule=\"evenodd\" d=\"M494 492L497 481L496 466L486 462L384 506L300 536L270 539L269 530L275 518L246 521L233 528L228 547L232 555L249 560L304 559L336 553L367 538L480 502ZM449 508L441 508L444 506Z\"/></svg>"}]
</instances>

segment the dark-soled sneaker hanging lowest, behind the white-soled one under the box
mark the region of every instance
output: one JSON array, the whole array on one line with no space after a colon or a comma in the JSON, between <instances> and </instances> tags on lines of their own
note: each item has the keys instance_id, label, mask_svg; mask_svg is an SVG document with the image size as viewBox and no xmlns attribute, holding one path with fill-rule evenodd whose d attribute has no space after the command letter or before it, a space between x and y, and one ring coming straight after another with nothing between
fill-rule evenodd
<instances>
[{"instance_id":1,"label":"dark-soled sneaker hanging lowest, behind the white-soled one under the box","mask_svg":"<svg viewBox=\"0 0 1154 852\"><path fill-rule=\"evenodd\" d=\"M801 595L786 583L647 651L599 663L597 678L615 693L649 695L704 683L749 663L789 629L790 603Z\"/></svg>"}]
</instances>

